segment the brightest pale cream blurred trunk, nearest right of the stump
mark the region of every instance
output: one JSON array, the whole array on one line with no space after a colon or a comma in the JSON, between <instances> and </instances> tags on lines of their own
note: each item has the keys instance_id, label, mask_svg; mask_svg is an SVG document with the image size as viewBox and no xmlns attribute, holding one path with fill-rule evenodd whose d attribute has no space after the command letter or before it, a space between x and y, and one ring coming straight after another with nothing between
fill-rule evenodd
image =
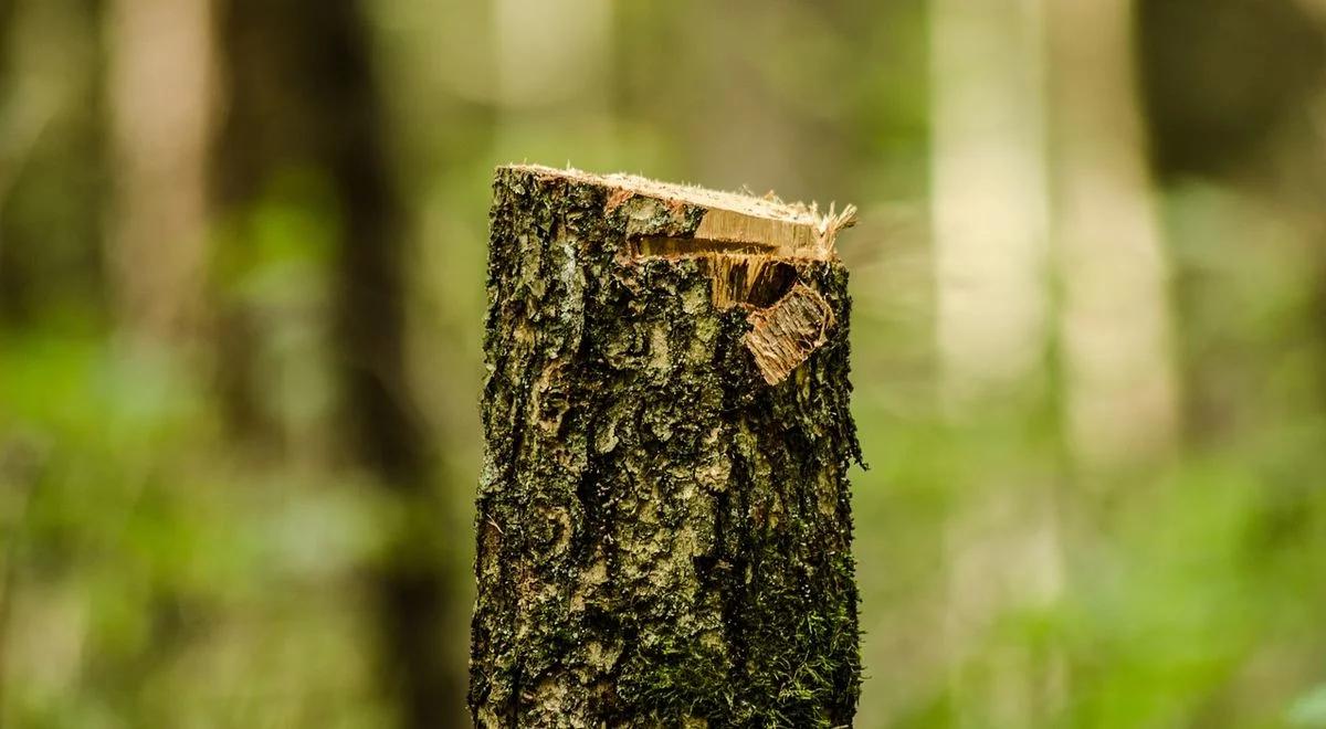
<instances>
[{"instance_id":1,"label":"brightest pale cream blurred trunk, nearest right of the stump","mask_svg":"<svg viewBox=\"0 0 1326 729\"><path fill-rule=\"evenodd\" d=\"M956 406L1045 374L1041 1L932 3L939 350Z\"/></svg>"}]
</instances>

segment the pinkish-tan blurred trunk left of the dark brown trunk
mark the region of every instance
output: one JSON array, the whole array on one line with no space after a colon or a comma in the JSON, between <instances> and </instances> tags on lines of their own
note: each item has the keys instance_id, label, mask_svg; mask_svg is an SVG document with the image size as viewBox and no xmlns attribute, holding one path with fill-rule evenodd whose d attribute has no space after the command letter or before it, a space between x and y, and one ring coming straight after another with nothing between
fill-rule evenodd
<instances>
[{"instance_id":1,"label":"pinkish-tan blurred trunk left of the dark brown trunk","mask_svg":"<svg viewBox=\"0 0 1326 729\"><path fill-rule=\"evenodd\" d=\"M110 0L107 16L117 208L106 258L121 323L164 341L199 315L211 0Z\"/></svg>"}]
</instances>

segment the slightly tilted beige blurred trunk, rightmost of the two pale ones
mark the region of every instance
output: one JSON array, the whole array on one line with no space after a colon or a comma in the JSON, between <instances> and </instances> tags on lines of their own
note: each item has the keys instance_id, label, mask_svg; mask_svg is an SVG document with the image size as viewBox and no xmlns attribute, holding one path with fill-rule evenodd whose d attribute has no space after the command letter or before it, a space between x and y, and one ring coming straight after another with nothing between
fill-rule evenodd
<instances>
[{"instance_id":1,"label":"slightly tilted beige blurred trunk, rightmost of the two pale ones","mask_svg":"<svg viewBox=\"0 0 1326 729\"><path fill-rule=\"evenodd\" d=\"M1052 0L1059 321L1069 444L1090 469L1174 447L1167 262L1151 196L1131 0Z\"/></svg>"}]
</instances>

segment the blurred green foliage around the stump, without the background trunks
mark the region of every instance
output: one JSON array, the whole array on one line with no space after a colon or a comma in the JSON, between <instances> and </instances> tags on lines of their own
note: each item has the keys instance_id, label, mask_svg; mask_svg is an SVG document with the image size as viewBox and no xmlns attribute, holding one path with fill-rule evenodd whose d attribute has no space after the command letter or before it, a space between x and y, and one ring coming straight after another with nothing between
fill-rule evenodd
<instances>
[{"instance_id":1,"label":"blurred green foliage around the stump, without the background trunks","mask_svg":"<svg viewBox=\"0 0 1326 729\"><path fill-rule=\"evenodd\" d=\"M1054 341L1025 391L967 418L943 406L944 80L924 0L365 3L407 211L410 384L439 461L420 506L341 453L346 216L326 171L294 164L207 220L206 306L245 311L244 342L211 317L184 343L145 339L117 313L125 162L101 72L131 3L0 1L0 725L387 725L369 582L398 559L459 575L432 649L463 676L488 183L528 159L863 209L842 241L871 464L854 477L861 726L1326 726L1319 4L1221 0L1246 25L1211 27L1197 0L1138 4L1184 427L1172 457L1097 472L1065 437ZM1231 34L1246 42L1211 50ZM1258 78L1286 80L1270 101L1246 49ZM1174 95L1199 77L1209 93ZM256 440L220 384L237 346ZM992 520L976 549L1016 571L1000 550L1042 512L1058 585L955 628L955 524ZM434 541L403 557L394 535L419 524Z\"/></svg>"}]
</instances>

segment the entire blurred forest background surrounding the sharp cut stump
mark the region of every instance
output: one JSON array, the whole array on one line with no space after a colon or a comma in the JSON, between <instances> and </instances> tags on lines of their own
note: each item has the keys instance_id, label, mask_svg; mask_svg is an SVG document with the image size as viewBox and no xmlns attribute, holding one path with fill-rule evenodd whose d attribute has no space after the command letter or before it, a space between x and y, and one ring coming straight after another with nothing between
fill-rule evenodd
<instances>
[{"instance_id":1,"label":"entire blurred forest background surrounding the sharp cut stump","mask_svg":"<svg viewBox=\"0 0 1326 729\"><path fill-rule=\"evenodd\" d=\"M858 726L1326 726L1321 3L213 5L0 0L0 725L463 726L492 170L569 160L861 208Z\"/></svg>"}]
</instances>

